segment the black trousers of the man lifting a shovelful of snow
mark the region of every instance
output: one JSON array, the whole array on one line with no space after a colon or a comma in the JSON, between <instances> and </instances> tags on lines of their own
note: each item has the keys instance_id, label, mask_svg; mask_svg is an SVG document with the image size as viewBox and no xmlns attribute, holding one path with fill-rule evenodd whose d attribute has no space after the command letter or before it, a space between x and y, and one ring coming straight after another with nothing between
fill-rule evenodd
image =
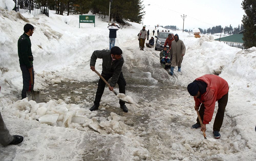
<instances>
[{"instance_id":1,"label":"black trousers of the man lifting a shovelful of snow","mask_svg":"<svg viewBox=\"0 0 256 161\"><path fill-rule=\"evenodd\" d=\"M110 74L101 73L101 75L103 76L104 79L106 79L106 81L108 81L112 77L112 74L110 75ZM119 93L125 94L126 82L125 82L125 79L124 79L124 76L123 76L123 72L120 73L117 84L119 86ZM104 92L105 85L106 85L106 83L100 78L100 80L98 82L98 88L97 88L95 100L94 100L94 105L95 106L100 106L100 100L101 100L101 96ZM124 105L125 102L119 100L119 104Z\"/></svg>"}]
</instances>

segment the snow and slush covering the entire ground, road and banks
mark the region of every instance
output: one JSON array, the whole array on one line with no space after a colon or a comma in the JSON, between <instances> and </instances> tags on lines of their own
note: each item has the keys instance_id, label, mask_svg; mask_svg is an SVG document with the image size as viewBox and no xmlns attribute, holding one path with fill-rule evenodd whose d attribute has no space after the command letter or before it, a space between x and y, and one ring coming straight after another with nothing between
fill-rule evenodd
<instances>
[{"instance_id":1,"label":"snow and slush covering the entire ground, road and banks","mask_svg":"<svg viewBox=\"0 0 256 161\"><path fill-rule=\"evenodd\" d=\"M96 16L95 28L94 24L79 28L78 15L0 12L0 110L11 134L24 136L22 144L0 146L0 160L256 159L255 47L241 50L213 41L208 34L196 39L171 31L185 43L186 54L181 72L175 67L175 75L170 76L159 63L160 51L140 50L137 34L142 25L129 22L131 26L117 31L115 45L123 50L126 94L136 104L126 104L129 112L124 113L106 87L99 110L90 111L99 79L90 70L90 56L94 50L109 48L108 18ZM35 90L46 103L19 100L23 83L17 40L26 21L35 27L30 37ZM155 27L146 29L153 36ZM97 59L98 71L101 64ZM211 73L229 83L229 101L221 138L214 139L212 120L208 139L203 140L200 129L190 129L197 114L186 87Z\"/></svg>"}]
</instances>

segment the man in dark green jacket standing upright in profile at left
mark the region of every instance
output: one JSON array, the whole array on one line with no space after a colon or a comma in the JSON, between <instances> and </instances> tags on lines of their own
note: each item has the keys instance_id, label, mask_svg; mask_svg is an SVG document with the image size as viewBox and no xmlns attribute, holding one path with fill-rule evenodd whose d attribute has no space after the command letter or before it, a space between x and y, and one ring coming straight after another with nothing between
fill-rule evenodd
<instances>
[{"instance_id":1,"label":"man in dark green jacket standing upright in profile at left","mask_svg":"<svg viewBox=\"0 0 256 161\"><path fill-rule=\"evenodd\" d=\"M30 72L32 72L34 82L33 55L31 51L31 41L29 39L33 33L34 26L26 24L24 26L24 33L18 40L19 64L23 78L23 89L21 92L22 99L27 97L27 91L31 91L31 89L34 88L34 86L31 85L30 79Z\"/></svg>"}]
</instances>

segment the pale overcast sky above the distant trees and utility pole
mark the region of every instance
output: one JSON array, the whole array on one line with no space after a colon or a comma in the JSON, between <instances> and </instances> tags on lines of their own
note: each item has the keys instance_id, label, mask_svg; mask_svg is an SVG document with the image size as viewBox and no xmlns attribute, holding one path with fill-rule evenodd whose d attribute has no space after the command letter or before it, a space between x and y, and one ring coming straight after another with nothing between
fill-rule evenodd
<instances>
[{"instance_id":1,"label":"pale overcast sky above the distant trees and utility pole","mask_svg":"<svg viewBox=\"0 0 256 161\"><path fill-rule=\"evenodd\" d=\"M221 27L231 25L234 28L239 24L241 26L245 14L241 3L242 0L143 0L142 4L145 5L143 25L172 25L182 29L181 15L184 14L187 15L184 29L207 29L218 25Z\"/></svg>"}]
</instances>

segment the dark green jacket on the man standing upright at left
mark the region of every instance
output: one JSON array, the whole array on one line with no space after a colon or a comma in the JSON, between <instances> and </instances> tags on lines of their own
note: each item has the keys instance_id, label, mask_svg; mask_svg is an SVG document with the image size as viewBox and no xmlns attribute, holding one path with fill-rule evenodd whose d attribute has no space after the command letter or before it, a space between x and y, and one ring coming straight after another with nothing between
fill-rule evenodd
<instances>
[{"instance_id":1,"label":"dark green jacket on the man standing upright at left","mask_svg":"<svg viewBox=\"0 0 256 161\"><path fill-rule=\"evenodd\" d=\"M31 41L26 33L23 33L18 40L19 64L26 65L27 68L32 67L33 55L31 51Z\"/></svg>"}]
</instances>

